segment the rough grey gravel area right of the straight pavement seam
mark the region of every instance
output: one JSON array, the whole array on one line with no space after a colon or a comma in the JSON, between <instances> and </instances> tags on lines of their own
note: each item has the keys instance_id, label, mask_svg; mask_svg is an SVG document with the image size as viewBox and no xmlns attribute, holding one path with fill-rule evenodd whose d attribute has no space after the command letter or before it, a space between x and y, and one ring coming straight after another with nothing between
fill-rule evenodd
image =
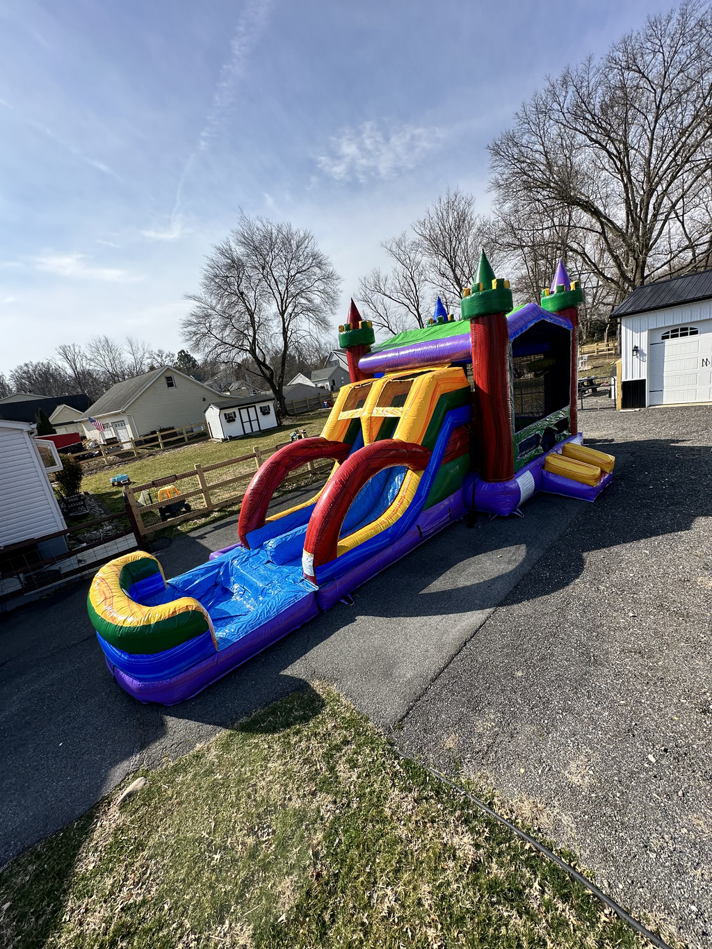
<instances>
[{"instance_id":1,"label":"rough grey gravel area right of the straight pavement seam","mask_svg":"<svg viewBox=\"0 0 712 949\"><path fill-rule=\"evenodd\" d=\"M634 913L709 946L712 406L586 411L580 427L618 457L611 486L394 737L514 801Z\"/></svg>"}]
</instances>

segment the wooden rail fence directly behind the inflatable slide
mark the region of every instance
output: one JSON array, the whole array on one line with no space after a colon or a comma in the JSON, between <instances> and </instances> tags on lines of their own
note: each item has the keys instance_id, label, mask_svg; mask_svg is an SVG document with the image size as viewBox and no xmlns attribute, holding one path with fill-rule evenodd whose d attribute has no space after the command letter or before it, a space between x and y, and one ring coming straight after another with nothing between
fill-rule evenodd
<instances>
[{"instance_id":1,"label":"wooden rail fence directly behind the inflatable slide","mask_svg":"<svg viewBox=\"0 0 712 949\"><path fill-rule=\"evenodd\" d=\"M289 444L289 442L283 444ZM181 521L207 517L220 508L232 507L242 500L247 485L253 479L254 472L262 462L281 447L283 447L281 444L275 445L271 451L259 451L255 448L248 455L228 458L227 461L217 461L212 465L196 465L191 471L168 474L165 477L151 481L149 484L126 487L126 513L131 520L134 531L137 535L145 537L161 530L166 526L166 523L168 525L180 524ZM310 461L306 470L300 469L290 474L286 480L290 482L302 479L305 474L307 476L313 476L314 474L326 476L332 465L333 461L327 458ZM228 474L227 469L232 469L229 476L222 476ZM167 522L163 522L160 519L159 508L165 508L175 503L175 500L159 501L158 499L154 500L154 498L158 496L159 488L169 484L176 485L180 492L180 500L187 501L192 510L179 513L176 517L171 517ZM149 498L150 502L147 504L140 503L141 494L143 494L141 502ZM196 501L200 503L199 507L195 506Z\"/></svg>"}]
</instances>

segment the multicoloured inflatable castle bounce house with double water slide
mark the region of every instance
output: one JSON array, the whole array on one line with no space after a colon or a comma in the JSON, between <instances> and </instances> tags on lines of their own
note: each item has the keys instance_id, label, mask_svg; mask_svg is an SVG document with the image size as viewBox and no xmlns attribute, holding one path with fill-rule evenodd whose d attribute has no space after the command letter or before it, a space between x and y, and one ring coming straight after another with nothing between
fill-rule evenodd
<instances>
[{"instance_id":1,"label":"multicoloured inflatable castle bounce house with double water slide","mask_svg":"<svg viewBox=\"0 0 712 949\"><path fill-rule=\"evenodd\" d=\"M576 423L577 307L562 263L541 306L512 308L484 253L461 316L374 345L351 302L350 383L320 437L254 475L233 547L166 582L136 551L99 570L88 610L106 663L143 702L194 696L468 512L519 513L537 491L592 501L614 459ZM468 371L472 367L472 383ZM333 459L322 490L268 515L295 468Z\"/></svg>"}]
</instances>

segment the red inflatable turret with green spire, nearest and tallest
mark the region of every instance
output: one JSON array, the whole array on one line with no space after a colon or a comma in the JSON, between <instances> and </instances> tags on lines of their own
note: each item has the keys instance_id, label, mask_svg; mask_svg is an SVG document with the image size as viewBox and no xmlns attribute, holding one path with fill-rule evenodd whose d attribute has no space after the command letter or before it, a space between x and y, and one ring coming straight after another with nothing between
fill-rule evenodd
<instances>
[{"instance_id":1,"label":"red inflatable turret with green spire, nearest and tallest","mask_svg":"<svg viewBox=\"0 0 712 949\"><path fill-rule=\"evenodd\" d=\"M483 481L509 481L515 476L507 325L512 290L508 280L497 279L482 251L477 280L462 294L462 319L470 321L480 474Z\"/></svg>"}]
</instances>

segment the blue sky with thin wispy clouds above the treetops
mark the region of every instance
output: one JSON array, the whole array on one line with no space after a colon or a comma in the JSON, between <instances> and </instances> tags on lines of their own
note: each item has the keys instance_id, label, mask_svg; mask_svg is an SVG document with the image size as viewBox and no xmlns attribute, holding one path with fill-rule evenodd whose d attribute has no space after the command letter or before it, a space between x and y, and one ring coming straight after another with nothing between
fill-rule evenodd
<instances>
[{"instance_id":1,"label":"blue sky with thin wispy clouds above the treetops","mask_svg":"<svg viewBox=\"0 0 712 949\"><path fill-rule=\"evenodd\" d=\"M665 9L663 5L661 9ZM96 333L176 350L183 295L247 214L344 278L639 0L0 0L0 372Z\"/></svg>"}]
</instances>

